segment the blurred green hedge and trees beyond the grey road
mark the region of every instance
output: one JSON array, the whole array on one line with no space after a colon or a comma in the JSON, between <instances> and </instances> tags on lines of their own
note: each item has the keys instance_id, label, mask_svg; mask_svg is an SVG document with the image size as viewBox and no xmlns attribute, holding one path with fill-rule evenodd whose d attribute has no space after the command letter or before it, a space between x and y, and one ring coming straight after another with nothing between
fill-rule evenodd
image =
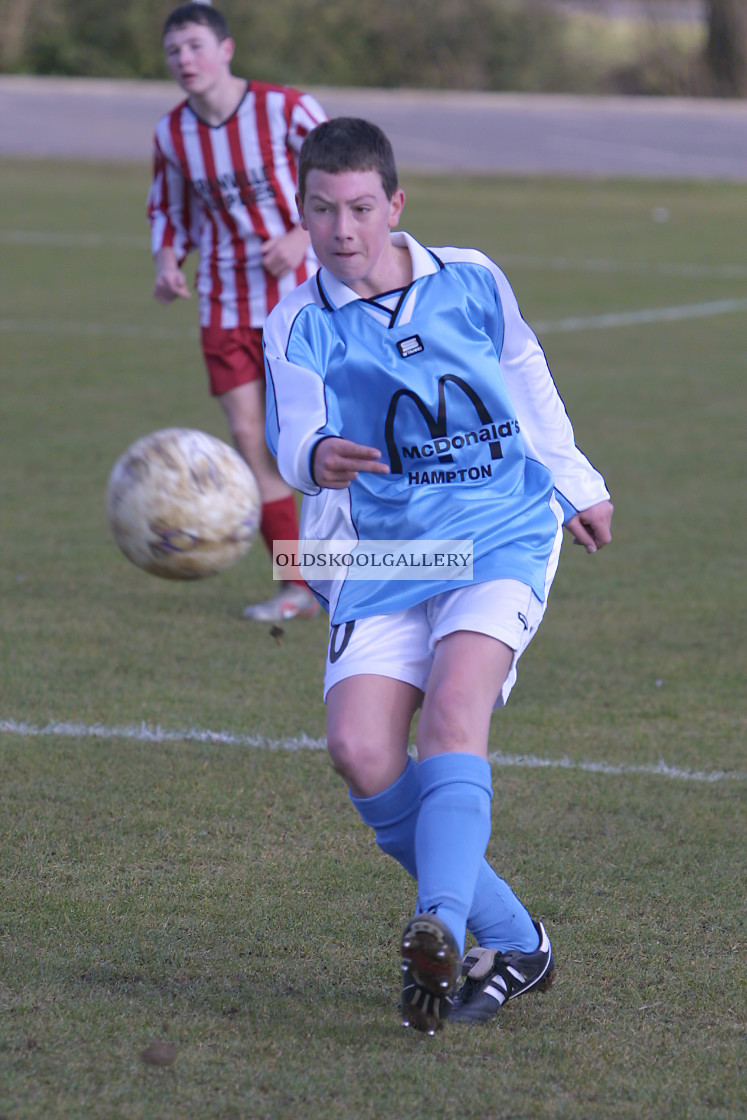
<instances>
[{"instance_id":1,"label":"blurred green hedge and trees beyond the grey road","mask_svg":"<svg viewBox=\"0 0 747 1120\"><path fill-rule=\"evenodd\" d=\"M661 4L661 0L660 0ZM167 0L0 0L0 71L164 78ZM222 0L235 72L293 85L747 96L747 0L624 35L552 0ZM660 10L660 9L657 9Z\"/></svg>"}]
</instances>

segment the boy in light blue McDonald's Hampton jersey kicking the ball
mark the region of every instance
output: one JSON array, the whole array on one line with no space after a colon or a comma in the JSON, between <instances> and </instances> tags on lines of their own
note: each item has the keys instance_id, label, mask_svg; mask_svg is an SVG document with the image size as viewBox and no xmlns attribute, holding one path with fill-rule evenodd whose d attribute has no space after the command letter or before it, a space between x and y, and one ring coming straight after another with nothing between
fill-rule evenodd
<instances>
[{"instance_id":1,"label":"boy in light blue McDonald's Hampton jersey kicking the ball","mask_svg":"<svg viewBox=\"0 0 747 1120\"><path fill-rule=\"evenodd\" d=\"M613 506L503 272L393 232L403 205L379 128L337 118L307 137L299 211L321 268L272 311L264 348L268 440L305 495L301 540L473 544L471 580L309 579L330 614L329 754L417 880L402 1021L432 1034L552 980L542 923L485 859L488 728L542 619L563 523L597 552Z\"/></svg>"}]
</instances>

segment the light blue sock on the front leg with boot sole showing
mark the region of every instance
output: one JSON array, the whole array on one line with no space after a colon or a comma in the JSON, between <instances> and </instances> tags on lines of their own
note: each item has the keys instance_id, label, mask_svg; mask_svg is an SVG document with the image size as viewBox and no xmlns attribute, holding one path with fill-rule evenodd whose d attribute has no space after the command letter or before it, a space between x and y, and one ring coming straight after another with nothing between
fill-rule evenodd
<instances>
[{"instance_id":1,"label":"light blue sock on the front leg with boot sole showing","mask_svg":"<svg viewBox=\"0 0 747 1120\"><path fill-rule=\"evenodd\" d=\"M491 838L491 764L477 755L420 763L415 825L418 907L435 911L464 951L467 916Z\"/></svg>"}]
</instances>

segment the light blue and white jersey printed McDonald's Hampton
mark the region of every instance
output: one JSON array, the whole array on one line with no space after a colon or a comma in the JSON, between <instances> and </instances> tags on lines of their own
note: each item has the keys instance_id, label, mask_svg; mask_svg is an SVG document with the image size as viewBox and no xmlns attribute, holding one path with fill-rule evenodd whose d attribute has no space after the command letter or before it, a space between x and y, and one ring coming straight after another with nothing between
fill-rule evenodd
<instances>
[{"instance_id":1,"label":"light blue and white jersey printed McDonald's Hampton","mask_svg":"<svg viewBox=\"0 0 747 1120\"><path fill-rule=\"evenodd\" d=\"M320 269L264 327L268 444L305 494L300 536L471 540L475 581L519 579L544 600L559 521L608 497L604 480L497 265L392 236L412 256L407 289L365 300ZM320 489L310 460L325 436L379 448L391 473ZM309 586L339 624L464 581Z\"/></svg>"}]
</instances>

